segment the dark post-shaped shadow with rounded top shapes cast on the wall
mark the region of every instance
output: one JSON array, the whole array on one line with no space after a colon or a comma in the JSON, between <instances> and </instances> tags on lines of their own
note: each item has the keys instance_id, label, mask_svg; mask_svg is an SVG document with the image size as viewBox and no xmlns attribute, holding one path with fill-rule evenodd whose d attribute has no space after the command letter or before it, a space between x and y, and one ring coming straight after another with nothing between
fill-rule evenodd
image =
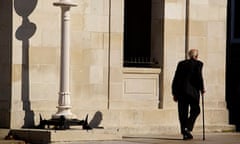
<instances>
[{"instance_id":1,"label":"dark post-shaped shadow with rounded top shapes cast on the wall","mask_svg":"<svg viewBox=\"0 0 240 144\"><path fill-rule=\"evenodd\" d=\"M14 0L15 12L22 17L22 25L17 28L15 37L22 41L22 93L21 100L25 112L22 127L34 127L34 112L29 99L29 39L36 32L36 25L29 20L29 15L37 5L37 0Z\"/></svg>"}]
</instances>

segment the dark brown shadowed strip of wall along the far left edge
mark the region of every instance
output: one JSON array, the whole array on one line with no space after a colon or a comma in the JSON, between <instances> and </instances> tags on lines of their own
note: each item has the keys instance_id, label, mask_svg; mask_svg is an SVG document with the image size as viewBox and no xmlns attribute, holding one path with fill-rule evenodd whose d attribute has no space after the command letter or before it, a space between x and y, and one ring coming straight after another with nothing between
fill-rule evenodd
<instances>
[{"instance_id":1,"label":"dark brown shadowed strip of wall along the far left edge","mask_svg":"<svg viewBox=\"0 0 240 144\"><path fill-rule=\"evenodd\" d=\"M0 0L0 127L10 127L12 1Z\"/></svg>"}]
</instances>

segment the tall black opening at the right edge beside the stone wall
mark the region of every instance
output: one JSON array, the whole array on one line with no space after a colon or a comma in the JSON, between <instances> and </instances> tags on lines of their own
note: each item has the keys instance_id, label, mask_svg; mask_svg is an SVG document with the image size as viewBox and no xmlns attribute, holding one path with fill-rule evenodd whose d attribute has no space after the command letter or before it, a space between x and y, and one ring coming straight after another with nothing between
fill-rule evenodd
<instances>
[{"instance_id":1,"label":"tall black opening at the right edge beside the stone wall","mask_svg":"<svg viewBox=\"0 0 240 144\"><path fill-rule=\"evenodd\" d=\"M240 1L228 0L226 100L230 124L240 131Z\"/></svg>"}]
</instances>

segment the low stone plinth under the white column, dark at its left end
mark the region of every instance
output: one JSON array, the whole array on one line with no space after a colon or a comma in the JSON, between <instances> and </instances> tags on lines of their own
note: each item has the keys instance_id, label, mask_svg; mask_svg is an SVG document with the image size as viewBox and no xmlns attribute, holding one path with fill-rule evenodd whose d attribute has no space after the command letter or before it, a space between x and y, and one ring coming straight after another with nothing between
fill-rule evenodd
<instances>
[{"instance_id":1,"label":"low stone plinth under the white column, dark at its left end","mask_svg":"<svg viewBox=\"0 0 240 144\"><path fill-rule=\"evenodd\" d=\"M12 129L11 134L15 139L34 144L60 141L122 139L122 135L116 129L93 129L88 131L78 128L67 130Z\"/></svg>"}]
</instances>

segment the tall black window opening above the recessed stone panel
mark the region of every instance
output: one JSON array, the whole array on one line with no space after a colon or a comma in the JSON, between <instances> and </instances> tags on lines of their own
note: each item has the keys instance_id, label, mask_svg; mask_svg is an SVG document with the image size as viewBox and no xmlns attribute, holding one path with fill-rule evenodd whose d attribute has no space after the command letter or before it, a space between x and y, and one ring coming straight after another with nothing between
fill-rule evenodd
<instances>
[{"instance_id":1,"label":"tall black window opening above the recessed stone panel","mask_svg":"<svg viewBox=\"0 0 240 144\"><path fill-rule=\"evenodd\" d=\"M152 0L125 0L124 66L157 67L151 57Z\"/></svg>"}]
</instances>

